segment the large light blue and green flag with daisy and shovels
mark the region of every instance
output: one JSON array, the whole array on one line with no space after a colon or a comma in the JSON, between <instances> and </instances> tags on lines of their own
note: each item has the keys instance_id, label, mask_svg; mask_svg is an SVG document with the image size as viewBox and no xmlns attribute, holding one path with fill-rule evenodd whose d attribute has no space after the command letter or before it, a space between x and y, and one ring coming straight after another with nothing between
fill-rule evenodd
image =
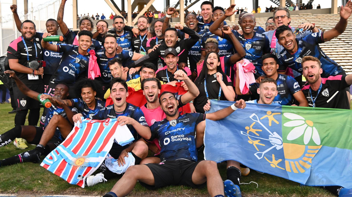
<instances>
[{"instance_id":1,"label":"large light blue and green flag with daisy and shovels","mask_svg":"<svg viewBox=\"0 0 352 197\"><path fill-rule=\"evenodd\" d=\"M211 101L208 113L233 102ZM253 170L311 186L352 188L352 111L247 103L206 120L206 160L235 160Z\"/></svg>"}]
</instances>

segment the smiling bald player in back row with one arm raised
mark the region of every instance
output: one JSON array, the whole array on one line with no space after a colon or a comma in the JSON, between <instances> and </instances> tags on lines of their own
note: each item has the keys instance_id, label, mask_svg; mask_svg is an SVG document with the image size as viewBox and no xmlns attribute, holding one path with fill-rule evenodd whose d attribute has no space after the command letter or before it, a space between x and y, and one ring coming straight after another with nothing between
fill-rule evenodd
<instances>
[{"instance_id":1,"label":"smiling bald player in back row with one arm raised","mask_svg":"<svg viewBox=\"0 0 352 197\"><path fill-rule=\"evenodd\" d=\"M214 33L221 38L230 40L227 34L223 33L219 26L222 21L227 17L234 14L233 8L235 5L231 5L226 9L224 15L222 15L218 20L216 20L210 27L210 32ZM256 18L253 14L246 13L241 18L241 28L243 30L243 35L240 35L237 31L233 30L233 34L239 40L243 47L246 49L245 58L248 59L256 67L254 77L265 75L262 70L262 56L264 53L270 52L269 40L268 38L260 33L254 32L254 27L256 26Z\"/></svg>"}]
</instances>

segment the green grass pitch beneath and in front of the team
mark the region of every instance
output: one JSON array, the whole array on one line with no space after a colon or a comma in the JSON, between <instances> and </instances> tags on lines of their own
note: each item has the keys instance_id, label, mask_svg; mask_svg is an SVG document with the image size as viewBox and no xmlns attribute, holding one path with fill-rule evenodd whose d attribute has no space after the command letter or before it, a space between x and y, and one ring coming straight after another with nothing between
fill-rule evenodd
<instances>
[{"instance_id":1,"label":"green grass pitch beneath and in front of the team","mask_svg":"<svg viewBox=\"0 0 352 197\"><path fill-rule=\"evenodd\" d=\"M8 114L12 110L10 104L0 104L0 134L14 127L15 114ZM42 112L41 112L42 113ZM27 124L27 122L26 122ZM28 150L35 148L29 147ZM0 148L0 159L24 152L13 144ZM218 164L220 174L225 180L226 164ZM31 195L104 195L110 191L118 179L108 180L106 183L97 184L90 188L80 188L70 185L55 174L45 170L39 164L23 163L13 166L0 167L0 193L19 193ZM327 190L319 187L300 186L300 184L287 179L260 174L254 170L249 176L242 177L242 183L256 184L241 185L243 196L333 196ZM130 196L209 196L206 189L196 190L183 186L169 186L155 191L146 190L137 183Z\"/></svg>"}]
</instances>

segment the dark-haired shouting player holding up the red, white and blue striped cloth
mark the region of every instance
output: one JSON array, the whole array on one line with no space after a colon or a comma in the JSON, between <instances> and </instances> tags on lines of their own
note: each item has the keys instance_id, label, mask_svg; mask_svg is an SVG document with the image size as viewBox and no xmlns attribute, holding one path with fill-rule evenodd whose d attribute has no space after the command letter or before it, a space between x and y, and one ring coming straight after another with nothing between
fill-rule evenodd
<instances>
[{"instance_id":1,"label":"dark-haired shouting player holding up the red, white and blue striped cloth","mask_svg":"<svg viewBox=\"0 0 352 197\"><path fill-rule=\"evenodd\" d=\"M117 118L117 121L119 121L119 125L127 125L128 129L131 131L131 134L134 137L134 141L137 141L141 137L150 138L150 129L148 127L148 124L145 122L145 117L143 115L142 110L140 110L139 107L136 107L126 102L126 97L128 96L126 82L118 77L113 78L110 84L111 98L114 104L102 108L98 113L96 113L92 117L92 119L105 120L107 118ZM81 116L82 114L76 114L73 119L74 122L81 122ZM110 156L115 159L118 159L121 154L121 151L125 150L129 145L130 144L121 146L115 141L109 152ZM137 165L142 159L147 156L148 147L142 141L136 142L131 153L132 155L130 155L128 159L130 160L132 159L132 157L134 157L134 164ZM127 157L125 158L125 160L126 159ZM102 173L87 177L86 182L88 186L93 186L102 182L100 180L106 181L107 179L113 178L115 176L117 176L116 173L106 169L106 171Z\"/></svg>"}]
</instances>

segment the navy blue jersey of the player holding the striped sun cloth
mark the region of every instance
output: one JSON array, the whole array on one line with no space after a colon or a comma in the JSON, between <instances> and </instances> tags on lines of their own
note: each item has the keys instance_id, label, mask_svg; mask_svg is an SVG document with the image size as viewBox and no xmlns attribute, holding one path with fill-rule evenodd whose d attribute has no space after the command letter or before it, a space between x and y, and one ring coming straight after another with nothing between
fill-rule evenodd
<instances>
[{"instance_id":1,"label":"navy blue jersey of the player holding the striped sun cloth","mask_svg":"<svg viewBox=\"0 0 352 197\"><path fill-rule=\"evenodd\" d=\"M130 104L130 103L127 103L126 109L124 110L124 112L122 112L122 114L117 114L114 109L114 104L112 104L112 105L109 105L107 107L102 108L99 112L97 112L92 117L92 119L93 120L105 120L107 118L117 118L119 116L131 117L134 120L136 120L137 122L139 122L141 125L146 126L146 127L148 126L147 122L145 121L145 117L144 117L142 110L139 107L134 106L133 104ZM134 129L132 125L127 125L127 127L128 127L128 129L130 129L130 131L134 137L134 141L137 141L140 138L140 136L138 135L136 129ZM113 146L117 146L117 147L121 148L121 151L124 150L126 147L128 147L128 145L120 146L119 144L117 144L116 140L115 140L115 143Z\"/></svg>"}]
</instances>

